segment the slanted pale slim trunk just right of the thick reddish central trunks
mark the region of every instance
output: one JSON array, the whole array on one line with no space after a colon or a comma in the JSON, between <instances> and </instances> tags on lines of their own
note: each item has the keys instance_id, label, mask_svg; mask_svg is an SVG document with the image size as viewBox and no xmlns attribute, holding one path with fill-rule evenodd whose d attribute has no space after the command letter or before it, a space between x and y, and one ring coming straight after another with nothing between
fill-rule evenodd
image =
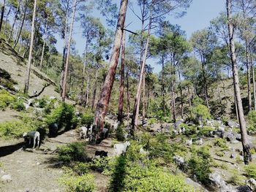
<instances>
[{"instance_id":1,"label":"slanted pale slim trunk just right of the thick reddish central trunks","mask_svg":"<svg viewBox=\"0 0 256 192\"><path fill-rule=\"evenodd\" d=\"M153 12L153 5L151 5L151 9L150 9L146 47L145 47L145 51L143 53L142 64L140 66L140 80L138 83L137 94L135 97L135 105L134 105L133 114L132 114L132 132L131 132L132 135L134 135L134 132L138 127L139 110L140 110L140 91L141 91L141 84L143 81L143 73L144 73L145 65L146 65L146 58L147 58L147 54L148 54L149 37L151 35L152 14L153 14L152 12Z\"/></svg>"}]
</instances>

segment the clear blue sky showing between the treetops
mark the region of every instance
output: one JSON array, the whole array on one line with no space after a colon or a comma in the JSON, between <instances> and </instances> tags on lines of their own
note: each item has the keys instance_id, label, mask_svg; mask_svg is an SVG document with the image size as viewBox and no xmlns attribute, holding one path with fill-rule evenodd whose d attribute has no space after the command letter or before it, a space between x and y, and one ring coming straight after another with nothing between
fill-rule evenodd
<instances>
[{"instance_id":1,"label":"clear blue sky showing between the treetops","mask_svg":"<svg viewBox=\"0 0 256 192\"><path fill-rule=\"evenodd\" d=\"M116 0L118 6L120 1ZM167 20L172 24L178 24L181 26L181 29L186 31L187 38L191 36L194 31L200 30L202 28L206 28L209 26L209 22L211 19L216 18L219 15L219 12L225 11L225 1L223 0L193 0L189 9L187 9L187 14L184 15L183 18L174 18L172 16L168 16ZM102 20L102 23L105 23L105 18L102 18L98 12L94 12L95 17L99 17ZM131 23L128 27L131 31L136 31L140 29L140 21L135 15L128 9L127 12L127 23ZM81 29L80 23L75 23L75 28L73 32L73 39L76 42L76 49L78 53L82 55L84 50L84 41L81 37ZM128 39L128 38L127 38ZM61 41L58 37L57 42L57 50L62 53L62 47L64 42ZM148 63L154 67L154 72L159 72L160 67L155 64L157 60L149 59Z\"/></svg>"}]
</instances>

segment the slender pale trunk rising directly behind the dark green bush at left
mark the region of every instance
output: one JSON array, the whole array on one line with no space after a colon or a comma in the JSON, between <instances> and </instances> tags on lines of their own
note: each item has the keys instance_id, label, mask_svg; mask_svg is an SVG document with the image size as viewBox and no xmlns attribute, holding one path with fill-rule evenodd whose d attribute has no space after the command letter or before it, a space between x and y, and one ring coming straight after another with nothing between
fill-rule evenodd
<instances>
[{"instance_id":1,"label":"slender pale trunk rising directly behind the dark green bush at left","mask_svg":"<svg viewBox=\"0 0 256 192\"><path fill-rule=\"evenodd\" d=\"M72 12L72 21L70 23L70 28L69 28L69 41L67 42L67 58L65 62L65 72L64 72L64 79L62 83L62 101L65 101L66 98L66 89L67 89L67 70L69 69L69 54L70 54L70 44L71 44L71 39L72 39L72 31L73 31L73 25L74 25L74 20L75 20L75 10L77 7L77 0L74 1L73 4L73 12Z\"/></svg>"}]
</instances>

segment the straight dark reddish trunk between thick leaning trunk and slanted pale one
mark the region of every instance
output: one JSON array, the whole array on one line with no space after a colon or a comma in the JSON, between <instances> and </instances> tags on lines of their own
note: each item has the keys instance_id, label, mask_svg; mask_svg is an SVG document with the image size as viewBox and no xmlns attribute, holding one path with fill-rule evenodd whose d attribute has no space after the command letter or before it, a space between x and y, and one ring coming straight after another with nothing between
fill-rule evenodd
<instances>
[{"instance_id":1,"label":"straight dark reddish trunk between thick leaning trunk and slanted pale one","mask_svg":"<svg viewBox=\"0 0 256 192\"><path fill-rule=\"evenodd\" d=\"M119 85L119 99L118 99L118 121L123 120L124 109L124 63L125 63L125 31L123 31L122 37L122 49L121 49L121 69L120 69L120 85Z\"/></svg>"}]
</instances>

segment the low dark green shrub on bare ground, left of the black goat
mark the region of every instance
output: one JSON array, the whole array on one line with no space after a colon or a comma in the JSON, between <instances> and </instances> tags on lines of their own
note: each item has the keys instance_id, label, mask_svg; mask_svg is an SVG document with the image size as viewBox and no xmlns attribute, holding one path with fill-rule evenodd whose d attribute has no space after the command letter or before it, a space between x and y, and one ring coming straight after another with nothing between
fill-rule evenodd
<instances>
[{"instance_id":1,"label":"low dark green shrub on bare ground, left of the black goat","mask_svg":"<svg viewBox=\"0 0 256 192\"><path fill-rule=\"evenodd\" d=\"M69 164L72 161L86 161L85 144L72 142L68 145L59 147L59 161Z\"/></svg>"}]
</instances>

